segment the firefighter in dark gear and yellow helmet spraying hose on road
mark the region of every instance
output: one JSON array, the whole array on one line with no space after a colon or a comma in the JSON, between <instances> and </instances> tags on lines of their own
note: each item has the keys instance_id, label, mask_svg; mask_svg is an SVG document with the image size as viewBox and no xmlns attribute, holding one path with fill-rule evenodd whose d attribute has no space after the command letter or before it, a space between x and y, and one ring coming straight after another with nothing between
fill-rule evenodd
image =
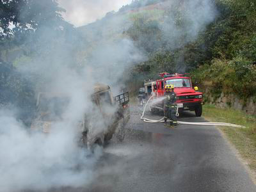
<instances>
[{"instance_id":1,"label":"firefighter in dark gear and yellow helmet spraying hose on road","mask_svg":"<svg viewBox=\"0 0 256 192\"><path fill-rule=\"evenodd\" d=\"M164 125L167 124L167 118L170 118L170 126L177 127L177 116L176 116L176 94L174 92L174 86L167 84L165 86L166 92L164 93Z\"/></svg>"}]
</instances>

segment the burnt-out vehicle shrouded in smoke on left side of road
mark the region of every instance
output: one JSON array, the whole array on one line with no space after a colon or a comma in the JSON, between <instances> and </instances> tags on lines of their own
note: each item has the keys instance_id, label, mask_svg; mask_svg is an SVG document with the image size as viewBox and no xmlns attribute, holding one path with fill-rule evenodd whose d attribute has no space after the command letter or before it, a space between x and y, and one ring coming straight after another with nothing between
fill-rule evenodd
<instances>
[{"instance_id":1,"label":"burnt-out vehicle shrouded in smoke on left side of road","mask_svg":"<svg viewBox=\"0 0 256 192\"><path fill-rule=\"evenodd\" d=\"M38 93L31 131L50 134L54 129L52 125L63 120L69 102L70 98L62 93ZM96 144L104 145L114 134L118 141L123 141L124 127L130 118L129 92L113 97L108 85L95 84L91 102L92 111L74 125L79 130L79 144L93 149Z\"/></svg>"}]
</instances>

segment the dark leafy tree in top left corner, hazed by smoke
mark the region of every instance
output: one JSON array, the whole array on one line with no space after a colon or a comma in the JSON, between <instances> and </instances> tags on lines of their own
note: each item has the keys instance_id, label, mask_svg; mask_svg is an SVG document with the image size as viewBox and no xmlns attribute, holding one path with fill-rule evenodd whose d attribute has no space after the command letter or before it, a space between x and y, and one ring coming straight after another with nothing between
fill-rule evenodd
<instances>
[{"instance_id":1,"label":"dark leafy tree in top left corner, hazed by smoke","mask_svg":"<svg viewBox=\"0 0 256 192\"><path fill-rule=\"evenodd\" d=\"M72 31L73 26L63 20L61 12L65 10L56 0L1 0L1 59L12 62L8 55L13 48L19 47L27 55L38 49L38 42L51 42L63 36L63 31Z\"/></svg>"}]
</instances>

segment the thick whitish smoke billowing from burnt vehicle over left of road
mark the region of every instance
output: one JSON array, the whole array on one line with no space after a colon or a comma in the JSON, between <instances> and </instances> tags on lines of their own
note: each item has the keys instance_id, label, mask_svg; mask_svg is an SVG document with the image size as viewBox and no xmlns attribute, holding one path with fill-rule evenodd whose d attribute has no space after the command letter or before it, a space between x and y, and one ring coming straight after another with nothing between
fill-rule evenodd
<instances>
[{"instance_id":1,"label":"thick whitish smoke billowing from burnt vehicle over left of road","mask_svg":"<svg viewBox=\"0 0 256 192\"><path fill-rule=\"evenodd\" d=\"M16 109L1 109L0 189L3 191L40 191L65 186L76 188L89 184L97 177L93 166L101 156L102 148L97 148L92 155L88 149L78 145L81 140L79 124L85 114L93 123L93 134L108 128L108 120L92 103L93 85L104 83L111 88L115 85L117 94L122 86L119 79L124 70L144 60L131 40L120 38L112 44L106 42L95 47L90 61L82 60L81 65L77 65L74 51L76 47L81 47L81 41L67 42L74 34L63 32L65 35L58 36L60 31L47 28L38 29L37 33L44 39L35 42L36 51L40 54L20 63L17 70L35 83L36 93L64 95L70 102L61 111L61 118L51 122L48 134L30 132L30 127L17 120ZM93 108L96 109L93 111ZM106 109L110 115L115 110L116 106ZM54 119L54 116L51 118Z\"/></svg>"}]
</instances>

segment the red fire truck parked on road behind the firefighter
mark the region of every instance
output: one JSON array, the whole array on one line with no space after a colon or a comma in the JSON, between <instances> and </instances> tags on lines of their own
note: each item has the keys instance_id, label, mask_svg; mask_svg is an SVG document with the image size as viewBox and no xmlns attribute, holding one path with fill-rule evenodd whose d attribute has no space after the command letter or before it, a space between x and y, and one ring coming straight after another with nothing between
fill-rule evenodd
<instances>
[{"instance_id":1,"label":"red fire truck parked on road behind the firefighter","mask_svg":"<svg viewBox=\"0 0 256 192\"><path fill-rule=\"evenodd\" d=\"M156 96L154 99L163 97L166 84L173 84L179 112L189 110L195 111L196 116L202 115L203 93L198 92L198 87L193 88L190 77L183 74L168 74L167 72L161 73L159 76L161 79L158 79L153 86L153 94ZM156 110L163 110L162 101L156 102L150 107L150 111Z\"/></svg>"}]
</instances>

